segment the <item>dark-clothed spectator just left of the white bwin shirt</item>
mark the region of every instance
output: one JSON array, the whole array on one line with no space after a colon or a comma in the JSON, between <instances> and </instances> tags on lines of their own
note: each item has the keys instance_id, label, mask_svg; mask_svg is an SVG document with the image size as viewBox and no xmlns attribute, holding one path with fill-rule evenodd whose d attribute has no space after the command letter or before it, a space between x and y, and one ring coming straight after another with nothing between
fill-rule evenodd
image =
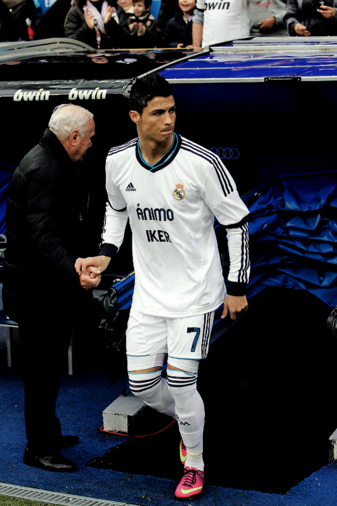
<instances>
[{"instance_id":1,"label":"dark-clothed spectator just left of the white bwin shirt","mask_svg":"<svg viewBox=\"0 0 337 506\"><path fill-rule=\"evenodd\" d=\"M195 0L179 0L179 10L171 18L162 36L164 48L192 48L192 19Z\"/></svg>"}]
</instances>

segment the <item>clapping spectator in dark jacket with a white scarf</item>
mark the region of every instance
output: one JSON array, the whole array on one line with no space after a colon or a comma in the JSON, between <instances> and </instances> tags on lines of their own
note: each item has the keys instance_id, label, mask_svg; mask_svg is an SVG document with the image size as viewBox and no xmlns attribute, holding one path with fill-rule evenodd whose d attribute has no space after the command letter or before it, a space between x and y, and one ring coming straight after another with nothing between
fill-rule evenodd
<instances>
[{"instance_id":1,"label":"clapping spectator in dark jacket with a white scarf","mask_svg":"<svg viewBox=\"0 0 337 506\"><path fill-rule=\"evenodd\" d=\"M78 0L65 18L65 37L95 49L128 48L127 15L114 0Z\"/></svg>"}]
</instances>

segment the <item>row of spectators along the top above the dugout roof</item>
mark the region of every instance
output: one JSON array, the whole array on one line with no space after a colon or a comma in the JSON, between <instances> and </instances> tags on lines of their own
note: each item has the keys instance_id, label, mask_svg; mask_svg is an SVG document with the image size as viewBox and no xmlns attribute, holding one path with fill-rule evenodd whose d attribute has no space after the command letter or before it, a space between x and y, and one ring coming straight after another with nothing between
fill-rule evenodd
<instances>
[{"instance_id":1,"label":"row of spectators along the top above the dugout roof","mask_svg":"<svg viewBox=\"0 0 337 506\"><path fill-rule=\"evenodd\" d=\"M67 37L102 49L208 48L248 36L337 35L337 0L162 0L154 15L157 1L0 0L0 41Z\"/></svg>"}]
</instances>

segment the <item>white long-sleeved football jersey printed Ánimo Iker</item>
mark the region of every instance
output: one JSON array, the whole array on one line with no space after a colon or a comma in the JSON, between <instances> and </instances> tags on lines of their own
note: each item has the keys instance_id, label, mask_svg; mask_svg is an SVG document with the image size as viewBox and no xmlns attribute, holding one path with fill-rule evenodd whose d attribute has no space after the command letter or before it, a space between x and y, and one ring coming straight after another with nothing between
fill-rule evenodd
<instances>
[{"instance_id":1,"label":"white long-sleeved football jersey printed \u00c1nimo Iker","mask_svg":"<svg viewBox=\"0 0 337 506\"><path fill-rule=\"evenodd\" d=\"M249 211L218 156L174 134L171 149L151 166L135 138L109 151L106 171L102 242L120 247L129 218L135 308L182 317L208 313L224 302L215 216L230 231L228 279L248 282L248 226L240 222Z\"/></svg>"}]
</instances>

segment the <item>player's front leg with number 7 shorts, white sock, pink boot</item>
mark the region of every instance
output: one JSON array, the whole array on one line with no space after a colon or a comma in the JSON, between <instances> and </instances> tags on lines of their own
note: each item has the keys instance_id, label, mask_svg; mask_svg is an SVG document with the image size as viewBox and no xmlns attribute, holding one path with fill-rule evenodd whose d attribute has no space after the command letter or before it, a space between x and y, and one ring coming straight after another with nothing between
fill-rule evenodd
<instances>
[{"instance_id":1,"label":"player's front leg with number 7 shorts, white sock, pink boot","mask_svg":"<svg viewBox=\"0 0 337 506\"><path fill-rule=\"evenodd\" d=\"M175 319L168 325L167 381L186 446L185 472L175 495L190 497L204 483L204 401L197 391L199 360L206 358L214 313Z\"/></svg>"}]
</instances>

